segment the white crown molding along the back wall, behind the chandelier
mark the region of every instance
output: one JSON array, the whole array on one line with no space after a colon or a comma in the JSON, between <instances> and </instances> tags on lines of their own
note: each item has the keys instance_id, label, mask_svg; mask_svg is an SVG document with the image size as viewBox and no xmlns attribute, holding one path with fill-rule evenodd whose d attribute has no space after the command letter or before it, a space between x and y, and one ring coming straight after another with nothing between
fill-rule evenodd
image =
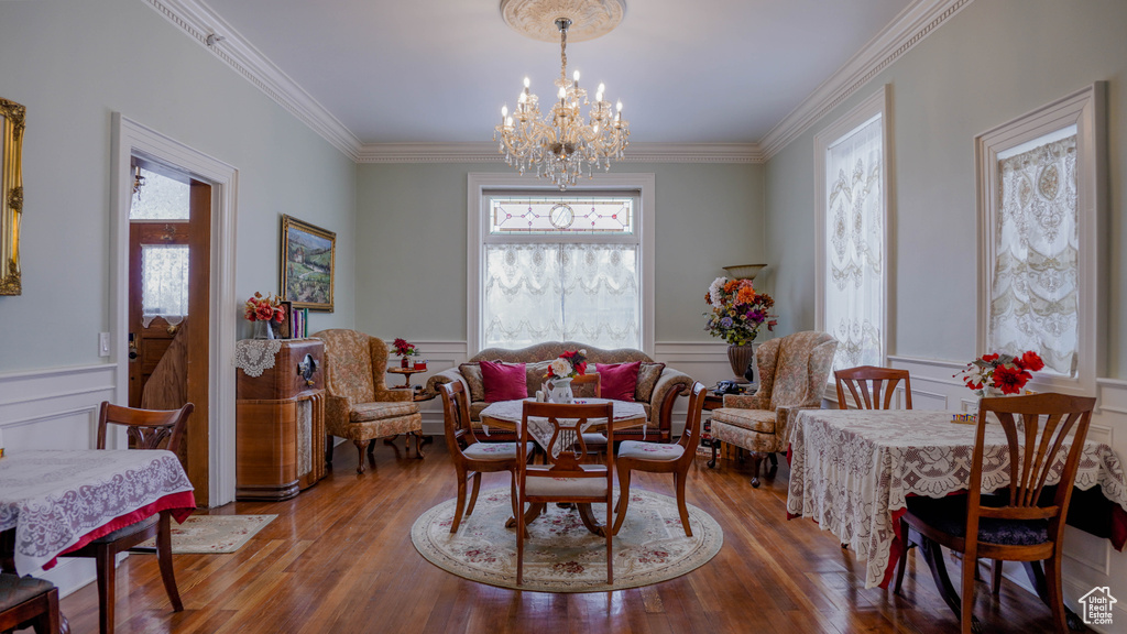
<instances>
[{"instance_id":1,"label":"white crown molding along the back wall, behind the chandelier","mask_svg":"<svg viewBox=\"0 0 1127 634\"><path fill-rule=\"evenodd\" d=\"M755 143L630 143L619 162L763 162ZM364 143L356 162L504 162L496 143Z\"/></svg>"}]
</instances>

